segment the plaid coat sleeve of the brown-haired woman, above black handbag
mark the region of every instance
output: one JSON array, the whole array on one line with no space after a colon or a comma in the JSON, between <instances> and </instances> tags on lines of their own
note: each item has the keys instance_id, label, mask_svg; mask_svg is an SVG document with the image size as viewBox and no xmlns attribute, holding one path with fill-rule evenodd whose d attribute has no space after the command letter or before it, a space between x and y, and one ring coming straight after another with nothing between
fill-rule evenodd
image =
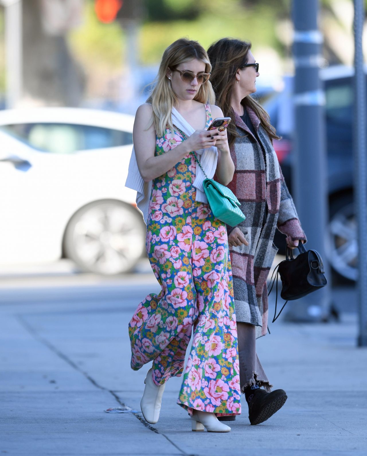
<instances>
[{"instance_id":1,"label":"plaid coat sleeve of the brown-haired woman, above black handbag","mask_svg":"<svg viewBox=\"0 0 367 456\"><path fill-rule=\"evenodd\" d=\"M307 240L306 235L299 222L296 208L293 199L289 193L287 184L284 181L282 170L279 166L280 172L280 203L278 215L278 230L285 234L287 238L295 241L296 239Z\"/></svg>"}]
</instances>

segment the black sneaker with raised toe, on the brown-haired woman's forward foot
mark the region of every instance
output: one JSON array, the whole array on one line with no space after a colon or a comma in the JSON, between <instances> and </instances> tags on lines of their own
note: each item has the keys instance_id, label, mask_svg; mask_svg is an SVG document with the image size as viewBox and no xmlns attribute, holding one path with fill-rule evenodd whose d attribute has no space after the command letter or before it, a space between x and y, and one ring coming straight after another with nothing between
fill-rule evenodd
<instances>
[{"instance_id":1,"label":"black sneaker with raised toe, on the brown-haired woman's forward foot","mask_svg":"<svg viewBox=\"0 0 367 456\"><path fill-rule=\"evenodd\" d=\"M276 389L267 393L265 389L246 389L248 419L252 425L258 425L269 419L281 409L287 400L284 389Z\"/></svg>"}]
</instances>

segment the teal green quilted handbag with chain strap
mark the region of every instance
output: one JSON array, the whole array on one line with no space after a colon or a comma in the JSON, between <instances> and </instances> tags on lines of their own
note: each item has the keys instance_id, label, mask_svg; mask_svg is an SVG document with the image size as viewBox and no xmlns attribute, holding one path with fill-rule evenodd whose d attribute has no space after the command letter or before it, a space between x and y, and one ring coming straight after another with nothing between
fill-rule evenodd
<instances>
[{"instance_id":1,"label":"teal green quilted handbag with chain strap","mask_svg":"<svg viewBox=\"0 0 367 456\"><path fill-rule=\"evenodd\" d=\"M178 131L184 139L186 139L184 132L179 129ZM231 227L235 227L243 222L246 217L240 209L241 203L238 201L236 195L228 187L225 187L225 185L222 185L213 179L209 179L195 152L192 151L191 153L194 155L197 164L206 177L203 182L203 187L214 217Z\"/></svg>"}]
</instances>

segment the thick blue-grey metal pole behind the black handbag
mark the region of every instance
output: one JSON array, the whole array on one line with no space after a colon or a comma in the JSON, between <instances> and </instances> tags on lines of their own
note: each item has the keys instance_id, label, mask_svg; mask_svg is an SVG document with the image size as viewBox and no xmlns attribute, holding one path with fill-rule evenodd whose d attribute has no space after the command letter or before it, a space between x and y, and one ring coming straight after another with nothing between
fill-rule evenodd
<instances>
[{"instance_id":1,"label":"thick blue-grey metal pole behind the black handbag","mask_svg":"<svg viewBox=\"0 0 367 456\"><path fill-rule=\"evenodd\" d=\"M294 0L294 105L296 160L293 170L295 202L310 249L325 264L327 175L325 157L325 95L319 78L322 35L317 26L318 0ZM330 285L288 303L288 321L325 321L330 313Z\"/></svg>"}]
</instances>

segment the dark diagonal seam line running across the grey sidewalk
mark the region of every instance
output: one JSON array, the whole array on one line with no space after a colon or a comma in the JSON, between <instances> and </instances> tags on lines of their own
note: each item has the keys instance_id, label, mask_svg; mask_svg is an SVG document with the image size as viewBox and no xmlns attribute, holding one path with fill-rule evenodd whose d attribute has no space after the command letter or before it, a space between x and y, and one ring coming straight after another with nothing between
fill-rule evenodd
<instances>
[{"instance_id":1,"label":"dark diagonal seam line running across the grey sidewalk","mask_svg":"<svg viewBox=\"0 0 367 456\"><path fill-rule=\"evenodd\" d=\"M20 321L20 323L26 328L26 330L31 334L32 337L34 337L38 342L41 342L43 345L45 345L49 350L51 350L53 353L55 353L59 358L61 358L63 361L68 363L73 369L77 370L79 373L84 375L87 380L89 380L90 383L92 383L96 388L101 389L102 391L107 391L110 393L115 400L122 406L122 407L128 407L126 404L121 402L120 398L115 394L114 391L105 388L104 386L101 386L99 383L97 383L94 378L90 377L90 375L86 372L84 372L82 369L79 368L77 364L75 364L70 358L68 358L63 352L60 352L58 348L56 348L51 342L49 342L45 337L42 337L38 334L38 332L24 319L23 316L17 314L16 317ZM130 408L130 407L129 407ZM132 413L141 423L144 425L146 428L149 430L152 430L154 433L162 435L168 442L173 445L175 448L178 449L178 451L181 452L182 455L184 456L189 456L188 453L185 451L181 450L172 440L170 440L167 435L160 433L155 427L147 423L140 415L137 413Z\"/></svg>"}]
</instances>

